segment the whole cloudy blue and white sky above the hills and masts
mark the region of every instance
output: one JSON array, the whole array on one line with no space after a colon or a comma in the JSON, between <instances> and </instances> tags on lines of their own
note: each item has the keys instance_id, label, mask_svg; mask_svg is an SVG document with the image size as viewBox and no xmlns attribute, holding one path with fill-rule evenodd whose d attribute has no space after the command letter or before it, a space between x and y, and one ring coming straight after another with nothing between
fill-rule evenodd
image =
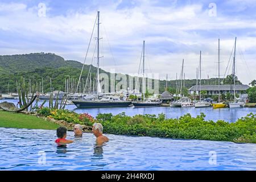
<instances>
[{"instance_id":1,"label":"whole cloudy blue and white sky above the hills and masts","mask_svg":"<svg viewBox=\"0 0 256 182\"><path fill-rule=\"evenodd\" d=\"M0 55L52 52L83 62L100 11L106 71L137 73L145 40L147 73L174 80L184 59L185 78L196 78L202 51L202 78L217 77L220 38L223 77L237 36L236 72L248 84L256 78L255 9L251 0L0 0ZM96 65L95 42L85 64Z\"/></svg>"}]
</instances>

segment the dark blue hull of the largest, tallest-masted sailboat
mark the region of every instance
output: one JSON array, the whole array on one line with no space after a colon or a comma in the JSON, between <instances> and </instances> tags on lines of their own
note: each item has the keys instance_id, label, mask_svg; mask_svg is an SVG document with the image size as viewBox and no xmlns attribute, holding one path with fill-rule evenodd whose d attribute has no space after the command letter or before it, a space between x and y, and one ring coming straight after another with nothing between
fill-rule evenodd
<instances>
[{"instance_id":1,"label":"dark blue hull of the largest, tallest-masted sailboat","mask_svg":"<svg viewBox=\"0 0 256 182\"><path fill-rule=\"evenodd\" d=\"M91 108L91 107L128 107L130 101L79 101L72 100L72 102L77 106L77 108Z\"/></svg>"}]
</instances>

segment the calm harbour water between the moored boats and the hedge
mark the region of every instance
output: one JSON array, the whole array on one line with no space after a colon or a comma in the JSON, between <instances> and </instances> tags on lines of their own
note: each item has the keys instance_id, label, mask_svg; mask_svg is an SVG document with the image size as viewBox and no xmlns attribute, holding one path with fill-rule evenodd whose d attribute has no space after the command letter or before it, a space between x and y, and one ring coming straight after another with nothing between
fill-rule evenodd
<instances>
[{"instance_id":1,"label":"calm harbour water between the moored boats and the hedge","mask_svg":"<svg viewBox=\"0 0 256 182\"><path fill-rule=\"evenodd\" d=\"M5 100L2 100L5 101ZM15 105L18 100L7 100L13 102ZM1 101L0 101L1 102ZM40 101L39 103L42 103ZM48 106L48 103L44 106ZM131 108L131 107L109 107L109 108L91 108L91 109L77 109L75 105L67 105L65 109L73 110L76 113L89 113L93 117L96 117L98 113L112 113L114 115L125 112L127 115L136 115L136 114L166 114L167 118L177 118L184 114L190 113L192 117L200 115L200 113L205 113L205 119L211 119L217 121L222 119L228 122L235 122L237 118L245 117L249 113L256 114L256 107L245 107L245 108L222 108L222 109L212 109L212 107L205 108L180 108L180 107L144 107L144 108Z\"/></svg>"}]
</instances>

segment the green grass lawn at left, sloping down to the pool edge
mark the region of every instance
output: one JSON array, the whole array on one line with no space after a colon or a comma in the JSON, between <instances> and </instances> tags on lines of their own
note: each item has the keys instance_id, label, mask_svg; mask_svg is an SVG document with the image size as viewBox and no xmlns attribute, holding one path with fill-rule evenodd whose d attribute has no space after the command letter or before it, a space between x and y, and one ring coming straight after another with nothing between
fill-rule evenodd
<instances>
[{"instance_id":1,"label":"green grass lawn at left, sloping down to the pool edge","mask_svg":"<svg viewBox=\"0 0 256 182\"><path fill-rule=\"evenodd\" d=\"M8 113L0 110L0 127L55 130L59 125L37 118L34 115Z\"/></svg>"}]
</instances>

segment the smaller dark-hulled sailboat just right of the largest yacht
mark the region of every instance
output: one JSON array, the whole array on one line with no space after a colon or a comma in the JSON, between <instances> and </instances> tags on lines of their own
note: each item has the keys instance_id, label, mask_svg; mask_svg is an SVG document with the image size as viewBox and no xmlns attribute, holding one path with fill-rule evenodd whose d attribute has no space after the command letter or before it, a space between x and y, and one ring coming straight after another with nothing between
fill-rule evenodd
<instances>
[{"instance_id":1,"label":"smaller dark-hulled sailboat just right of the largest yacht","mask_svg":"<svg viewBox=\"0 0 256 182\"><path fill-rule=\"evenodd\" d=\"M145 61L145 41L143 40L143 101L134 101L132 102L133 107L155 107L160 106L161 102L154 102L151 100L145 101L145 69L144 69L144 61Z\"/></svg>"}]
</instances>

